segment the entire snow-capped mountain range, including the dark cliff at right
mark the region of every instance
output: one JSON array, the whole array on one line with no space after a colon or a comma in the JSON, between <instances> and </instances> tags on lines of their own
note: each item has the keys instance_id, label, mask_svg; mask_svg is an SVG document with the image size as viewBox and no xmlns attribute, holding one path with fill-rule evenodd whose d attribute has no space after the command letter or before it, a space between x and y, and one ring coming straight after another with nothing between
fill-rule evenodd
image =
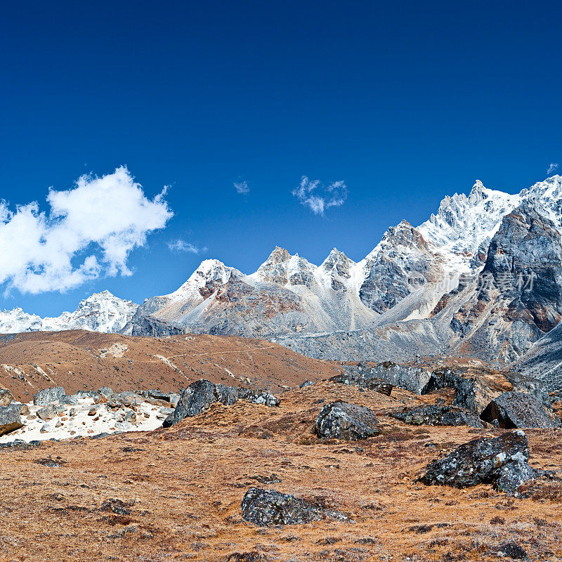
<instances>
[{"instance_id":1,"label":"entire snow-capped mountain range, including the dark cliff at right","mask_svg":"<svg viewBox=\"0 0 562 562\"><path fill-rule=\"evenodd\" d=\"M334 248L315 266L276 247L245 275L208 259L176 291L140 306L105 291L57 318L4 311L0 332L194 332L270 339L333 360L448 354L507 365L562 318L561 233L561 176L516 195L476 181L417 228L388 228L358 262Z\"/></svg>"}]
</instances>

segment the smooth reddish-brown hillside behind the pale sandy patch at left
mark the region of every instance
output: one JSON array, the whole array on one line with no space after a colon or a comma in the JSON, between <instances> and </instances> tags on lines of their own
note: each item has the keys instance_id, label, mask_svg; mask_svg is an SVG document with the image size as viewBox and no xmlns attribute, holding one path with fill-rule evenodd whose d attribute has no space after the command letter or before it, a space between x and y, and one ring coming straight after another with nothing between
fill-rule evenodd
<instances>
[{"instance_id":1,"label":"smooth reddish-brown hillside behind the pale sandy patch at left","mask_svg":"<svg viewBox=\"0 0 562 562\"><path fill-rule=\"evenodd\" d=\"M175 392L202 378L275 393L337 372L280 345L231 336L149 338L84 330L0 336L0 387L24 402L49 386L69 394L101 386Z\"/></svg>"}]
</instances>

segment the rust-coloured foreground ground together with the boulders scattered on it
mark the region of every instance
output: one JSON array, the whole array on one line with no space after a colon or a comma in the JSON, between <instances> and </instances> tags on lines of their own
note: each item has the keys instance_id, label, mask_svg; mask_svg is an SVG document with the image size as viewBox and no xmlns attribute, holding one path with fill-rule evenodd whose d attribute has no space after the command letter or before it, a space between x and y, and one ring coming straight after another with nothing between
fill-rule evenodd
<instances>
[{"instance_id":1,"label":"rust-coloured foreground ground together with the boulders scattered on it","mask_svg":"<svg viewBox=\"0 0 562 562\"><path fill-rule=\"evenodd\" d=\"M386 396L363 374L356 384L292 384L277 405L232 401L226 386L195 381L185 417L167 428L0 445L3 555L562 559L562 430L437 424L434 410L453 408L459 388ZM514 388L486 376L482 385ZM410 421L394 417L405 411Z\"/></svg>"}]
</instances>

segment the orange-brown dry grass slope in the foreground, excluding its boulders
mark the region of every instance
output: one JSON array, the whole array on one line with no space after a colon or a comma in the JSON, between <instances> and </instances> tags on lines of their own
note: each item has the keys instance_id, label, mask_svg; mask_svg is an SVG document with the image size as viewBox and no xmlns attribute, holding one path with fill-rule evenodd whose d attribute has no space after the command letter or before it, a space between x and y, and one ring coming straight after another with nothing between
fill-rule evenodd
<instances>
[{"instance_id":1,"label":"orange-brown dry grass slope in the foreground, excluding its boulders","mask_svg":"<svg viewBox=\"0 0 562 562\"><path fill-rule=\"evenodd\" d=\"M559 483L513 499L489 485L414 482L431 459L499 431L405 426L386 415L435 395L323 382L280 398L277 408L216 404L167 430L0 450L1 559L495 561L506 541L532 561L561 559ZM371 407L381 435L317 440L313 421L336 399ZM560 470L560 431L527 433L531 464ZM252 486L315 498L352 521L261 528L241 516Z\"/></svg>"}]
</instances>

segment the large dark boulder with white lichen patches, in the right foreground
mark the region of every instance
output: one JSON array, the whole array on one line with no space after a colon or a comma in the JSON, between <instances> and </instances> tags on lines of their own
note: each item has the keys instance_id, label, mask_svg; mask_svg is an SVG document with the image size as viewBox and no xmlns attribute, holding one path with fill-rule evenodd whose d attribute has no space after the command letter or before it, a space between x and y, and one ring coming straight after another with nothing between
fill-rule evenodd
<instances>
[{"instance_id":1,"label":"large dark boulder with white lichen patches, in the right foreground","mask_svg":"<svg viewBox=\"0 0 562 562\"><path fill-rule=\"evenodd\" d=\"M497 438L482 437L457 447L444 459L431 462L419 481L426 485L469 488L493 484L497 490L518 495L518 487L540 476L528 464L525 432L518 430Z\"/></svg>"}]
</instances>

